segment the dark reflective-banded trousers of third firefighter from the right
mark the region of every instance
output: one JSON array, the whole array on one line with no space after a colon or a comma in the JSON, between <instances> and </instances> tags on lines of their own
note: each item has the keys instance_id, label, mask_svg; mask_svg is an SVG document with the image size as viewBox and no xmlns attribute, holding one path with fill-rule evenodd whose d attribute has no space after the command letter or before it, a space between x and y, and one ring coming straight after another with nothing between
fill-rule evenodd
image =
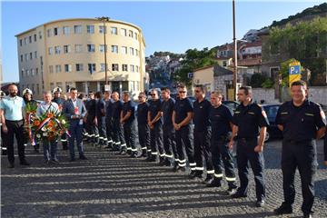
<instances>
[{"instance_id":1,"label":"dark reflective-banded trousers of third firefighter from the right","mask_svg":"<svg viewBox=\"0 0 327 218\"><path fill-rule=\"evenodd\" d=\"M228 147L227 138L224 136L220 138L212 138L211 152L213 156L214 178L221 181L223 179L224 168L228 186L230 188L236 188L233 155Z\"/></svg>"}]
</instances>

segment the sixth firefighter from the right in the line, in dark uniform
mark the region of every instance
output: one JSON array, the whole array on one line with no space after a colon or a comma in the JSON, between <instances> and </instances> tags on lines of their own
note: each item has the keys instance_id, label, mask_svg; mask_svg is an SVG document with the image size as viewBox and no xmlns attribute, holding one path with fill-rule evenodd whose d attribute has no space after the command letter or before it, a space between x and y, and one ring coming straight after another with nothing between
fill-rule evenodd
<instances>
[{"instance_id":1,"label":"sixth firefighter from the right in the line, in dark uniform","mask_svg":"<svg viewBox=\"0 0 327 218\"><path fill-rule=\"evenodd\" d=\"M172 115L173 107L175 101L170 96L170 90L167 87L161 89L163 104L163 147L166 157L166 166L171 166L173 164L173 171L176 171L178 168L178 154L176 149L176 136L175 130L173 128ZM174 159L173 159L174 158Z\"/></svg>"}]
</instances>

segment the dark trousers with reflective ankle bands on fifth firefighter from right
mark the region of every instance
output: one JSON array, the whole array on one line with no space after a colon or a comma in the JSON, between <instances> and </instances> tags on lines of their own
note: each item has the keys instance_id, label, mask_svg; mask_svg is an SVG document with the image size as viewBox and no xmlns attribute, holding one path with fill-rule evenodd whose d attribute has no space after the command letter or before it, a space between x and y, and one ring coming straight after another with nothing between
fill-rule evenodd
<instances>
[{"instance_id":1,"label":"dark trousers with reflective ankle bands on fifth firefighter from right","mask_svg":"<svg viewBox=\"0 0 327 218\"><path fill-rule=\"evenodd\" d=\"M183 146L188 157L191 168L195 168L194 162L194 148L193 148L193 134L190 124L182 126L179 130L176 130L176 148L178 153L178 165L180 167L186 166L185 156L183 154Z\"/></svg>"}]
</instances>

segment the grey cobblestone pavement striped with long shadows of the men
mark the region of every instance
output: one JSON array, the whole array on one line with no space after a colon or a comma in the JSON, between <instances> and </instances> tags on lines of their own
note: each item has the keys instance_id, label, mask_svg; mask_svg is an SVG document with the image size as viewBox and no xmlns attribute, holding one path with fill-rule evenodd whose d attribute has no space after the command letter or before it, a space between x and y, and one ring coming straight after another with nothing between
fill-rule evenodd
<instances>
[{"instance_id":1,"label":"grey cobblestone pavement striped with long shadows of the men","mask_svg":"<svg viewBox=\"0 0 327 218\"><path fill-rule=\"evenodd\" d=\"M223 188L206 188L189 180L186 173L143 159L85 145L88 160L68 162L60 151L60 164L43 163L43 155L27 148L23 167L16 158L15 169L1 158L1 217L275 217L272 210L282 203L282 172L279 141L266 144L267 199L263 208L254 207L253 179L248 198L231 199ZM322 163L322 141L318 144ZM327 170L320 165L316 176L314 217L327 217ZM296 175L294 213L299 217L301 187Z\"/></svg>"}]
</instances>

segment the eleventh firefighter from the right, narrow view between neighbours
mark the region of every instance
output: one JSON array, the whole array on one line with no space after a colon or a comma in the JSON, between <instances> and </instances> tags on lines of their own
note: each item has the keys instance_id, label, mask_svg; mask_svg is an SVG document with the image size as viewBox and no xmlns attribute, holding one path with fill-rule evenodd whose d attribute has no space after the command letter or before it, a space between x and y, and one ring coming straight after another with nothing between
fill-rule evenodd
<instances>
[{"instance_id":1,"label":"eleventh firefighter from the right, narrow view between neighbours","mask_svg":"<svg viewBox=\"0 0 327 218\"><path fill-rule=\"evenodd\" d=\"M106 147L113 147L113 100L111 99L110 91L104 92L104 102L105 102L105 131L106 131Z\"/></svg>"}]
</instances>

